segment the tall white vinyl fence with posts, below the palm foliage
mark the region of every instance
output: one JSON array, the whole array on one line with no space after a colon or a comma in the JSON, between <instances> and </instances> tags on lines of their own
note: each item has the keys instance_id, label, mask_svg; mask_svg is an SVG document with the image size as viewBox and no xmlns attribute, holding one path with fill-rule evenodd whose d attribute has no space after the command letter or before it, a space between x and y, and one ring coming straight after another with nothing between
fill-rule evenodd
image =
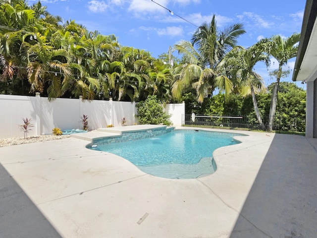
<instances>
[{"instance_id":1,"label":"tall white vinyl fence with posts, below the palm foliage","mask_svg":"<svg viewBox=\"0 0 317 238\"><path fill-rule=\"evenodd\" d=\"M81 98L57 98L49 102L48 98L39 94L35 97L0 95L0 139L23 136L19 125L26 118L32 119L34 125L28 136L35 136L52 134L54 127L61 130L82 129L80 117L83 115L88 116L89 130L109 124L122 126L123 118L127 125L133 125L137 122L136 112L135 102L87 101ZM173 125L184 124L185 103L167 104L165 112L171 115Z\"/></svg>"}]
</instances>

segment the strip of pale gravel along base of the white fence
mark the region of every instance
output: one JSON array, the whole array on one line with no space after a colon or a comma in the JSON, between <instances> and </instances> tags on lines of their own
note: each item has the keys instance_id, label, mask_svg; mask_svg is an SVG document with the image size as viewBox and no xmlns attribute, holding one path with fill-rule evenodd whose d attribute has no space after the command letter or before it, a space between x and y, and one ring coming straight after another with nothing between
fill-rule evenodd
<instances>
[{"instance_id":1,"label":"strip of pale gravel along base of the white fence","mask_svg":"<svg viewBox=\"0 0 317 238\"><path fill-rule=\"evenodd\" d=\"M70 137L70 135L39 135L39 136L31 136L25 139L24 137L0 139L0 147L47 141L47 140L57 140L57 139L63 139L67 137Z\"/></svg>"}]
</instances>

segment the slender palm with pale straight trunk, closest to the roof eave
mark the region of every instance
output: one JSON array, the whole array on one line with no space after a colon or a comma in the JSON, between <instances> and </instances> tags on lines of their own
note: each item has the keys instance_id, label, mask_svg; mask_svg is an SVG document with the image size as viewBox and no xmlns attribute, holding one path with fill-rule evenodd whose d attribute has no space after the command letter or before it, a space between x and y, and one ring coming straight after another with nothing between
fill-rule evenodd
<instances>
[{"instance_id":1,"label":"slender palm with pale straight trunk, closest to the roof eave","mask_svg":"<svg viewBox=\"0 0 317 238\"><path fill-rule=\"evenodd\" d=\"M272 131L273 120L276 111L277 93L279 81L283 75L282 66L286 65L287 61L296 57L300 34L294 33L288 38L283 38L280 35L272 36L267 43L266 51L269 56L275 58L278 62L278 69L275 71L276 82L273 86L272 97L269 110L268 129Z\"/></svg>"}]
</instances>

